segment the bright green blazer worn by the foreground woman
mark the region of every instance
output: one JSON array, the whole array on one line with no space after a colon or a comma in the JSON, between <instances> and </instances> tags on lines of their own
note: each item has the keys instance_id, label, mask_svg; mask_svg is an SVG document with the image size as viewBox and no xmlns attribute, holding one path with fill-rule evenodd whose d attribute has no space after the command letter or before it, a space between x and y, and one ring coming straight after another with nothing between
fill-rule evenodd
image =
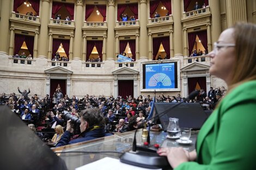
<instances>
[{"instance_id":1,"label":"bright green blazer worn by the foreground woman","mask_svg":"<svg viewBox=\"0 0 256 170\"><path fill-rule=\"evenodd\" d=\"M197 138L197 161L175 169L256 169L256 80L228 93Z\"/></svg>"}]
</instances>

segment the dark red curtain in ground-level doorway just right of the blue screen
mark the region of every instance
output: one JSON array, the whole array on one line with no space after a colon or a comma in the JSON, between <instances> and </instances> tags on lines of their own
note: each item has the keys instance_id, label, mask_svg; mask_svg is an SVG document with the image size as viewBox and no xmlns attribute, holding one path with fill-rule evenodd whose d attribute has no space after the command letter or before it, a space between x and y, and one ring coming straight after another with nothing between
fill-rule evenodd
<instances>
[{"instance_id":1,"label":"dark red curtain in ground-level doorway just right of the blue screen","mask_svg":"<svg viewBox=\"0 0 256 170\"><path fill-rule=\"evenodd\" d=\"M191 77L187 78L188 81L188 93L191 93L194 91L194 89L197 86L197 83L199 84L201 89L204 89L206 91L206 78L205 77Z\"/></svg>"}]
</instances>

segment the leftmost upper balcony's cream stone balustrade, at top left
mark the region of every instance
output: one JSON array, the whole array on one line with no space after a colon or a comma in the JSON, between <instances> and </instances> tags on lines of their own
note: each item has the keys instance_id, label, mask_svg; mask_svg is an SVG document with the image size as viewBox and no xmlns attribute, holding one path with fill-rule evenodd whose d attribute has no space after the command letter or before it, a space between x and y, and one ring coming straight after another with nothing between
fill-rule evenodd
<instances>
[{"instance_id":1,"label":"leftmost upper balcony's cream stone balustrade, at top left","mask_svg":"<svg viewBox=\"0 0 256 170\"><path fill-rule=\"evenodd\" d=\"M19 23L23 23L23 24L33 24L33 25L36 25L36 26L40 26L39 16L19 14L19 13L15 13L14 11L11 12L10 21L19 22Z\"/></svg>"}]
</instances>

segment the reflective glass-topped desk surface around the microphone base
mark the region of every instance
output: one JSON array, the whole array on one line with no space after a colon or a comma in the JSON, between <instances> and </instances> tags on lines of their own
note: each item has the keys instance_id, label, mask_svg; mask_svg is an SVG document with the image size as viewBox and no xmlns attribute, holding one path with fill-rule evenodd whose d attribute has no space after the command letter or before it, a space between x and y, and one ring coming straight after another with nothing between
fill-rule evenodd
<instances>
[{"instance_id":1,"label":"reflective glass-topped desk surface around the microphone base","mask_svg":"<svg viewBox=\"0 0 256 170\"><path fill-rule=\"evenodd\" d=\"M159 133L150 131L150 144L159 143L161 147L184 147L191 151L194 149L197 135L192 133L190 145L180 145L175 140L166 139L167 133L160 131ZM87 142L81 142L76 144L70 144L68 146L52 148L54 152L95 152L95 151L116 151L126 152L131 150L133 142L134 131L127 133L118 133L112 136L97 138L96 140L90 140ZM142 145L147 141L147 138L141 137L142 129L139 129L136 134L136 140L138 145ZM57 154L65 162L68 169L72 170L77 167L86 165L87 163L94 162L105 158L106 156L111 158L119 158L118 153L62 153Z\"/></svg>"}]
</instances>

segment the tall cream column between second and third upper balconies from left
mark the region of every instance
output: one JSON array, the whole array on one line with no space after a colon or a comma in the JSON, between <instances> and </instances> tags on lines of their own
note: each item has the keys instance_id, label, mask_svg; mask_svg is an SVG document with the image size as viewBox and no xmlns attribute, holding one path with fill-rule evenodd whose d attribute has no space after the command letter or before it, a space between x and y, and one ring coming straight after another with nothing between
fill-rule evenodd
<instances>
[{"instance_id":1,"label":"tall cream column between second and third upper balconies from left","mask_svg":"<svg viewBox=\"0 0 256 170\"><path fill-rule=\"evenodd\" d=\"M83 0L76 0L76 28L74 39L74 60L82 58L82 27L83 27Z\"/></svg>"}]
</instances>

